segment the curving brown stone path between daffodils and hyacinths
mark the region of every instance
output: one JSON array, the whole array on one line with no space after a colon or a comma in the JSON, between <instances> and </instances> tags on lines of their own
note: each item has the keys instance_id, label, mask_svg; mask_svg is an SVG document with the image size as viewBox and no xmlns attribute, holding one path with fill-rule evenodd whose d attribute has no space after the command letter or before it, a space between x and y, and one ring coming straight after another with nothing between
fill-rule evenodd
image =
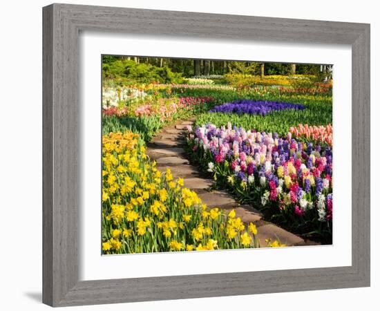
<instances>
[{"instance_id":1,"label":"curving brown stone path between daffodils and hyacinths","mask_svg":"<svg viewBox=\"0 0 380 311\"><path fill-rule=\"evenodd\" d=\"M257 236L262 247L267 245L265 243L267 238L272 241L278 238L281 243L286 245L315 244L304 241L299 236L262 220L259 211L249 205L240 205L227 192L209 189L213 185L213 180L202 174L196 166L190 164L183 148L185 144L183 132L187 125L193 124L194 120L180 121L177 124L165 127L147 144L146 154L157 162L158 169L165 171L169 168L174 178L183 178L184 187L196 191L198 197L207 207L219 207L226 213L234 208L236 216L240 217L245 224L255 223L258 231Z\"/></svg>"}]
</instances>

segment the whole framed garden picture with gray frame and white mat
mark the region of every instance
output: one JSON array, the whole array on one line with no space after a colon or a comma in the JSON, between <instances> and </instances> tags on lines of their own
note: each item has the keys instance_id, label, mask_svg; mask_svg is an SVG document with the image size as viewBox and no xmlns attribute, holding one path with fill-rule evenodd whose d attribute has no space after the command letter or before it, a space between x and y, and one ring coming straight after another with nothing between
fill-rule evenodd
<instances>
[{"instance_id":1,"label":"whole framed garden picture with gray frame and white mat","mask_svg":"<svg viewBox=\"0 0 380 311\"><path fill-rule=\"evenodd\" d=\"M43 12L44 303L370 284L368 24Z\"/></svg>"}]
</instances>

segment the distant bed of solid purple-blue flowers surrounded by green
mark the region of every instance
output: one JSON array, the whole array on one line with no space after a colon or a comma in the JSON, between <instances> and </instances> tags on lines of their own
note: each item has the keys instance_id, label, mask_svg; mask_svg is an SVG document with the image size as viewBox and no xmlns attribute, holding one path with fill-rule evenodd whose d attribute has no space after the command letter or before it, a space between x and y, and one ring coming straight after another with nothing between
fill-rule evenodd
<instances>
[{"instance_id":1,"label":"distant bed of solid purple-blue flowers surrounded by green","mask_svg":"<svg viewBox=\"0 0 380 311\"><path fill-rule=\"evenodd\" d=\"M236 100L215 106L211 113L248 113L250 115L267 115L271 111L281 111L285 109L303 110L305 106L301 104L291 104L287 102L268 102L255 100Z\"/></svg>"}]
</instances>

